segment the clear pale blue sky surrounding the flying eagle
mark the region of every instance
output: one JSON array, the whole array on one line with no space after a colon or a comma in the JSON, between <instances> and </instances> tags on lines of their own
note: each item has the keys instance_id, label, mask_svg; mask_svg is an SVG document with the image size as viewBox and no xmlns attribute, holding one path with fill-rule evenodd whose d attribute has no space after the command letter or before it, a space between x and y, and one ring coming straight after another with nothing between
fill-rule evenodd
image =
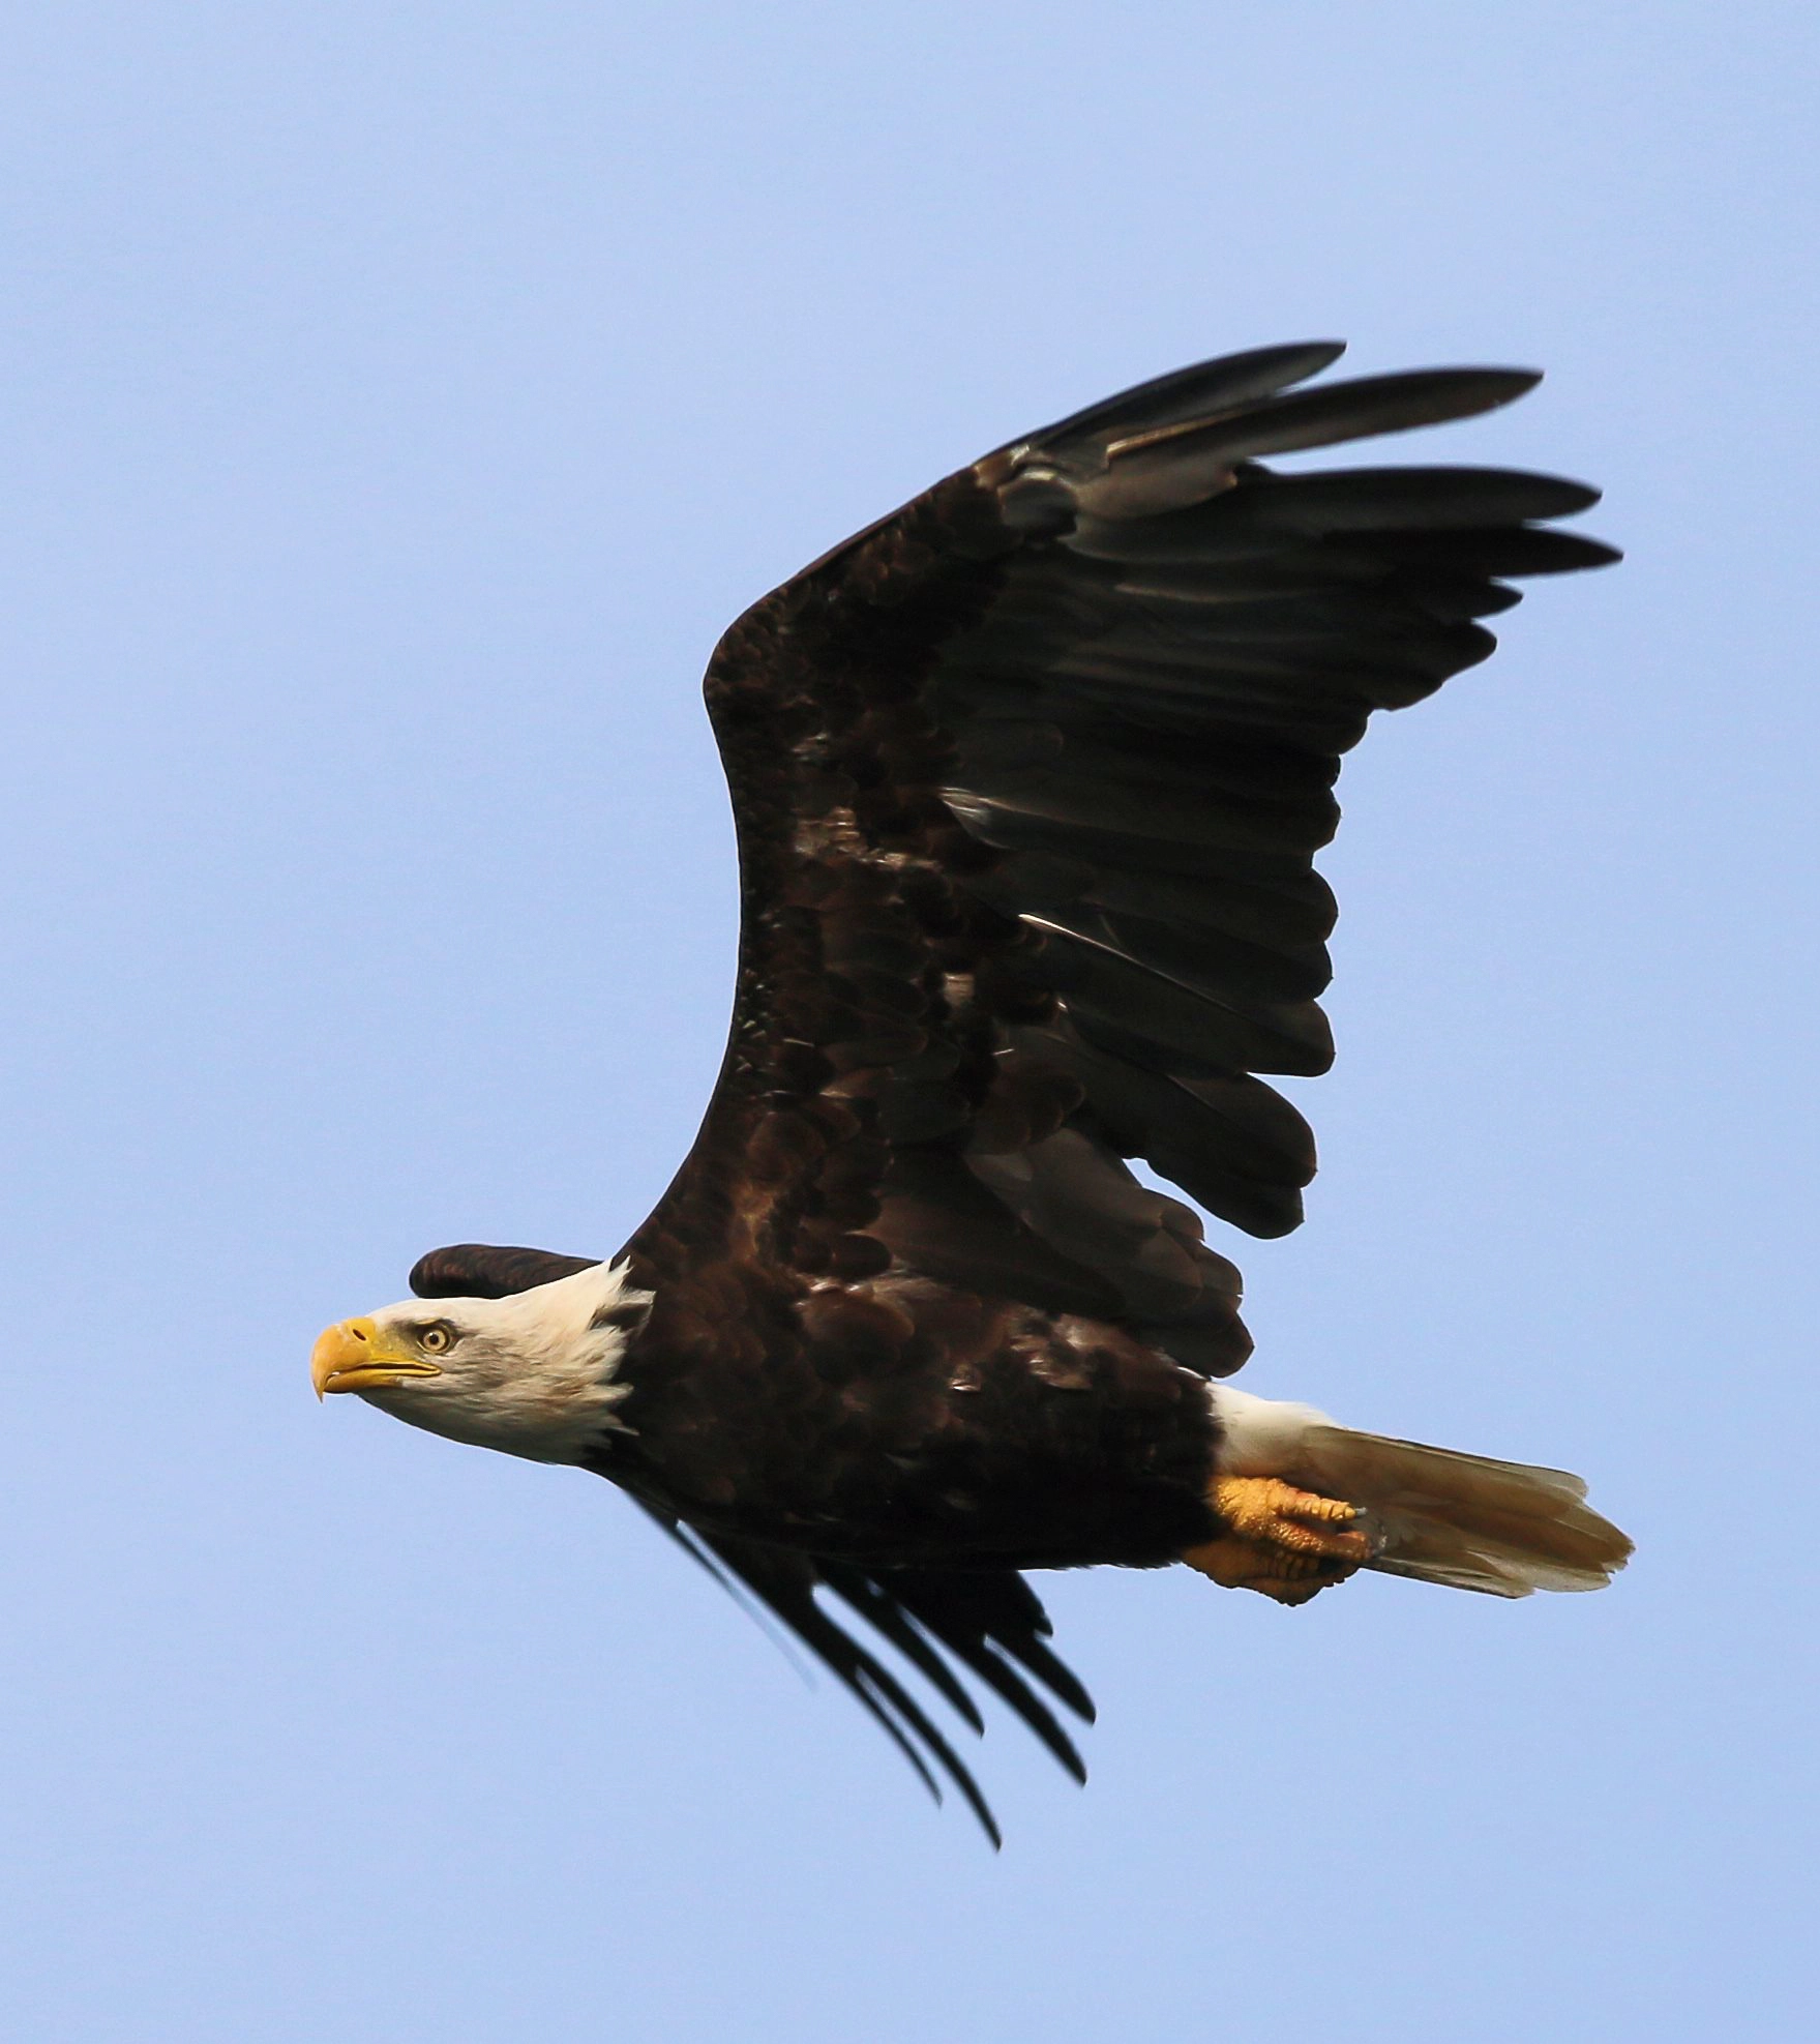
<instances>
[{"instance_id":1,"label":"clear pale blue sky surrounding the flying eagle","mask_svg":"<svg viewBox=\"0 0 1820 2044\"><path fill-rule=\"evenodd\" d=\"M1804 2032L1816 55L1808 4L12 12L10 2036ZM1385 454L1599 480L1630 558L1348 764L1246 1382L1585 1470L1640 1553L1048 1578L1093 1780L999 1717L995 1858L605 1484L304 1359L662 1192L719 630L1309 333L1546 368Z\"/></svg>"}]
</instances>

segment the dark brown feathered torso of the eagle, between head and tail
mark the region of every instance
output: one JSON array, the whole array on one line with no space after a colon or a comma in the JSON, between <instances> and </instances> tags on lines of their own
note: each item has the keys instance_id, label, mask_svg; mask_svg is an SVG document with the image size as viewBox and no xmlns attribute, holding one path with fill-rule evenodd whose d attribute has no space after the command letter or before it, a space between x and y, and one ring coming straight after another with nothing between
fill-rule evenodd
<instances>
[{"instance_id":1,"label":"dark brown feathered torso of the eagle, between head and tail","mask_svg":"<svg viewBox=\"0 0 1820 2044\"><path fill-rule=\"evenodd\" d=\"M811 1292L731 1367L662 1329L625 1361L637 1433L594 1466L690 1525L960 1568L1154 1566L1217 1533L1207 1384L1117 1327L884 1278Z\"/></svg>"}]
</instances>

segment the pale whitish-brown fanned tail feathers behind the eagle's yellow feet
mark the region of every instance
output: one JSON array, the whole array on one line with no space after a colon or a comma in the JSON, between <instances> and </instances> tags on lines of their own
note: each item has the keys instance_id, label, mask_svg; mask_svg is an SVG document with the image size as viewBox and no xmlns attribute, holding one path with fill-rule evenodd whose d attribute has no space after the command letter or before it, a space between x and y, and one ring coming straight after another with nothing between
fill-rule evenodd
<instances>
[{"instance_id":1,"label":"pale whitish-brown fanned tail feathers behind the eagle's yellow feet","mask_svg":"<svg viewBox=\"0 0 1820 2044\"><path fill-rule=\"evenodd\" d=\"M1565 1470L1460 1455L1450 1447L1354 1433L1328 1419L1297 1429L1295 1466L1277 1474L1369 1517L1367 1568L1491 1596L1601 1590L1630 1541Z\"/></svg>"}]
</instances>

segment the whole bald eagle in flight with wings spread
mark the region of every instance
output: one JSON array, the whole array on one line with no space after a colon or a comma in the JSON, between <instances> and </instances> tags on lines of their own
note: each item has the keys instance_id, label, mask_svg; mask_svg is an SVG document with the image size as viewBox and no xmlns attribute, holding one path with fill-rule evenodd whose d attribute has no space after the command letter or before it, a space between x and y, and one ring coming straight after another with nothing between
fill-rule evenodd
<instances>
[{"instance_id":1,"label":"whole bald eagle in flight with wings spread","mask_svg":"<svg viewBox=\"0 0 1820 2044\"><path fill-rule=\"evenodd\" d=\"M1132 1171L1301 1220L1313 1143L1258 1073L1332 1061L1340 756L1491 652L1505 578L1618 558L1548 523L1579 482L1264 466L1538 380L1295 388L1338 354L1140 384L746 611L707 672L737 993L682 1169L617 1257L437 1249L313 1357L319 1394L621 1484L995 1842L917 1680L978 1731L966 1670L1085 1778L1023 1570L1301 1605L1360 1568L1587 1590L1630 1551L1575 1476L1230 1386L1238 1269Z\"/></svg>"}]
</instances>

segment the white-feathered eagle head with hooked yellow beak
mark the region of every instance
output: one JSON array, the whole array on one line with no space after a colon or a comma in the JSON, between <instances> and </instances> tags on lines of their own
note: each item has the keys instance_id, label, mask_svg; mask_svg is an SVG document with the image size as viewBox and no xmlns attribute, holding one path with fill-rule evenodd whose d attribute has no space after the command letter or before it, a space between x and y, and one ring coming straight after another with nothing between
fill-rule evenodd
<instances>
[{"instance_id":1,"label":"white-feathered eagle head with hooked yellow beak","mask_svg":"<svg viewBox=\"0 0 1820 2044\"><path fill-rule=\"evenodd\" d=\"M411 1298L323 1329L317 1396L357 1392L394 1419L531 1461L580 1461L631 1386L619 1365L652 1294L590 1263L509 1298Z\"/></svg>"}]
</instances>

